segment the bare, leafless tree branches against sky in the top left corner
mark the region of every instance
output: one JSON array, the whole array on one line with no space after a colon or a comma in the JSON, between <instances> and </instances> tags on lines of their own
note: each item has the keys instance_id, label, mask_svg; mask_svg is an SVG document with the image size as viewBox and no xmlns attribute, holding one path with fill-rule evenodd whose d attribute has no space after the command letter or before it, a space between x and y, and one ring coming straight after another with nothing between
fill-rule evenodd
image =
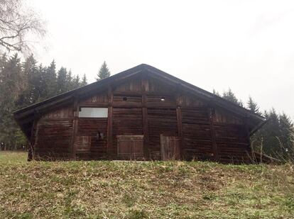
<instances>
[{"instance_id":1,"label":"bare, leafless tree branches against sky in the top left corner","mask_svg":"<svg viewBox=\"0 0 294 219\"><path fill-rule=\"evenodd\" d=\"M23 0L0 0L0 50L28 52L33 40L45 35L44 22Z\"/></svg>"}]
</instances>

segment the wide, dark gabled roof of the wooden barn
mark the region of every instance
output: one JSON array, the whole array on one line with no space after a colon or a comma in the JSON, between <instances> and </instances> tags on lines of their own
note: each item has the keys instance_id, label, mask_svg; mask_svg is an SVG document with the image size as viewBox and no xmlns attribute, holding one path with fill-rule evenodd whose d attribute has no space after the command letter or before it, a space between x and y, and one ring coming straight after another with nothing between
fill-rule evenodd
<instances>
[{"instance_id":1,"label":"wide, dark gabled roof of the wooden barn","mask_svg":"<svg viewBox=\"0 0 294 219\"><path fill-rule=\"evenodd\" d=\"M58 96L53 96L50 99L46 99L45 101L35 103L31 106L27 106L26 108L21 108L20 110L15 111L13 113L14 118L16 118L16 121L18 122L19 125L21 125L21 128L23 129L24 123L32 123L33 118L31 118L31 116L33 116L34 113L38 111L42 111L48 106L54 106L55 104L59 104L64 101L72 101L73 100L72 97L74 96L87 94L87 92L97 90L97 88L101 88L101 89L106 88L108 85L111 85L115 82L119 82L122 79L132 77L141 72L148 72L148 74L152 74L155 77L159 77L159 78L165 79L167 82L174 83L175 85L180 86L181 89L190 91L192 92L192 94L200 96L202 97L202 99L206 99L207 101L215 104L216 106L225 108L228 111L232 111L236 114L239 114L240 116L243 116L244 118L251 118L252 120L255 120L255 123L261 123L264 120L262 116L259 116L256 113L252 113L251 111L237 105L236 103L232 103L231 101L222 99L221 97L215 94L212 94L208 91L200 89L197 86L184 82L183 80L178 79L177 77L173 77L172 75L165 73L161 71L160 69L156 69L155 67L152 67L151 65L148 65L148 64L139 64L136 67L127 69L126 71L120 72L118 74L114 74L113 76L108 77L106 79L102 79L98 82L94 82L92 84L82 86L78 89L68 91ZM25 120L25 121L22 122L22 120Z\"/></svg>"}]
</instances>

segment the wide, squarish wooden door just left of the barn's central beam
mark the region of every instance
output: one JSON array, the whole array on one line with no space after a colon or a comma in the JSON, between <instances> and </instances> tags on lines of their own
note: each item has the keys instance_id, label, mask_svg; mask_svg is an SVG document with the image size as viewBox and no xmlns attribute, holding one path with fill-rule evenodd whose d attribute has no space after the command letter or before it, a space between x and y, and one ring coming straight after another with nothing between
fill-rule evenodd
<instances>
[{"instance_id":1,"label":"wide, squarish wooden door just left of the barn's central beam","mask_svg":"<svg viewBox=\"0 0 294 219\"><path fill-rule=\"evenodd\" d=\"M119 159L143 159L143 135L117 135Z\"/></svg>"}]
</instances>

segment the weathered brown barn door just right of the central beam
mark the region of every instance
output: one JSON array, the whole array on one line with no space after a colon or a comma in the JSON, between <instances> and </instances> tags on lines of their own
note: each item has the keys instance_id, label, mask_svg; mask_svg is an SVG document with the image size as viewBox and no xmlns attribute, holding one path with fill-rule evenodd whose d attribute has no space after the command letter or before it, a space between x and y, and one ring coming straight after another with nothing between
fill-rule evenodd
<instances>
[{"instance_id":1,"label":"weathered brown barn door just right of the central beam","mask_svg":"<svg viewBox=\"0 0 294 219\"><path fill-rule=\"evenodd\" d=\"M180 159L180 140L175 136L160 135L160 153L162 160Z\"/></svg>"}]
</instances>

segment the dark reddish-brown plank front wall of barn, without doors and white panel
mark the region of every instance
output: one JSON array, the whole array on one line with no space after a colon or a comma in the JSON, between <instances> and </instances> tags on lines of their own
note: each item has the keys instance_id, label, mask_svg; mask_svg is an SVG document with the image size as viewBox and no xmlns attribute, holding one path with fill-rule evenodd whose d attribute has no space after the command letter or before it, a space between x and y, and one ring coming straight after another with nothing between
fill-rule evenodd
<instances>
[{"instance_id":1,"label":"dark reddish-brown plank front wall of barn, without doors and white panel","mask_svg":"<svg viewBox=\"0 0 294 219\"><path fill-rule=\"evenodd\" d=\"M74 117L72 108L80 107L107 107L108 118ZM97 140L98 131L103 139ZM246 162L250 153L242 118L148 75L114 84L80 100L75 107L40 118L35 152L55 152L59 157L72 153L77 159L117 159L116 135L144 135L145 159L160 159L161 134L179 137L182 159Z\"/></svg>"}]
</instances>

